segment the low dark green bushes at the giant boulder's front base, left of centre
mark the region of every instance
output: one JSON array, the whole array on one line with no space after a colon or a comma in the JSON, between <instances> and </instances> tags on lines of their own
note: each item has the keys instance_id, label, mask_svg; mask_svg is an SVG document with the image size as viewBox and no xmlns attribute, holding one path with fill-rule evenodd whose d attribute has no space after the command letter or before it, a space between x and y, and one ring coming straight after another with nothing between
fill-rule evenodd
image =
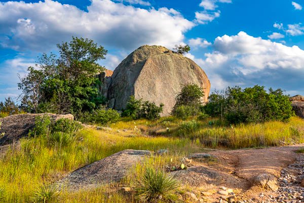
<instances>
[{"instance_id":1,"label":"low dark green bushes at the giant boulder's front base, left of centre","mask_svg":"<svg viewBox=\"0 0 304 203\"><path fill-rule=\"evenodd\" d=\"M134 96L130 96L126 110L122 116L132 117L133 119L146 118L148 120L154 120L160 118L160 114L163 112L163 106L164 104L160 104L158 107L150 101L142 101L142 99L136 99Z\"/></svg>"}]
</instances>

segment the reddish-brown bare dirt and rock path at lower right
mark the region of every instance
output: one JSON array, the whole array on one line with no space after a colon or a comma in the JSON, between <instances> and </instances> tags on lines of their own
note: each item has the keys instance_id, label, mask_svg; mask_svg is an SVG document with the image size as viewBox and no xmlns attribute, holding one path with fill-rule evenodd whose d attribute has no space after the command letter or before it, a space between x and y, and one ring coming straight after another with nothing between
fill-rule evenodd
<instances>
[{"instance_id":1,"label":"reddish-brown bare dirt and rock path at lower right","mask_svg":"<svg viewBox=\"0 0 304 203\"><path fill-rule=\"evenodd\" d=\"M203 188L204 192L195 189L194 192L201 193L200 197L205 202L225 202L224 198L220 200L222 195L218 194L222 188L233 189L236 202L270 202L268 199L265 201L265 197L278 196L278 192L252 187L252 179L260 174L270 174L279 179L282 168L293 164L299 156L304 156L295 153L295 150L302 147L304 144L262 149L214 150L208 154L216 157L215 161L194 158L188 170L178 171L174 176L194 188ZM200 157L204 154L195 155ZM229 196L231 195L227 197Z\"/></svg>"}]
</instances>

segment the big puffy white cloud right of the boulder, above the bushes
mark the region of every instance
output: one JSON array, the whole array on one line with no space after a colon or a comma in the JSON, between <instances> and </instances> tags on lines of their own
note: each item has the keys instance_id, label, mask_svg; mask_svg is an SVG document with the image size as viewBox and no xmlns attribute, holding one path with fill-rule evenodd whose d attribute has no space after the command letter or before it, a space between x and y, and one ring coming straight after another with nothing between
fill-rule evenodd
<instances>
[{"instance_id":1,"label":"big puffy white cloud right of the boulder, above the bushes","mask_svg":"<svg viewBox=\"0 0 304 203\"><path fill-rule=\"evenodd\" d=\"M236 36L217 37L214 51L192 57L206 71L212 88L255 84L303 91L304 50L263 40L241 31Z\"/></svg>"}]
</instances>

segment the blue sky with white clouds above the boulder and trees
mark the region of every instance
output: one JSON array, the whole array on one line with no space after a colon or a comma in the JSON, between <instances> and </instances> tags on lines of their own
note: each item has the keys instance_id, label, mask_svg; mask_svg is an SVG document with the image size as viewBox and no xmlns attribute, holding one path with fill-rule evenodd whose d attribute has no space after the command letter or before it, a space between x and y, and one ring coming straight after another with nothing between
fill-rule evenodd
<instances>
[{"instance_id":1,"label":"blue sky with white clouds above the boulder and trees","mask_svg":"<svg viewBox=\"0 0 304 203\"><path fill-rule=\"evenodd\" d=\"M211 90L255 84L304 94L304 0L1 1L0 100L26 69L71 36L108 50L113 70L141 45L189 44Z\"/></svg>"}]
</instances>

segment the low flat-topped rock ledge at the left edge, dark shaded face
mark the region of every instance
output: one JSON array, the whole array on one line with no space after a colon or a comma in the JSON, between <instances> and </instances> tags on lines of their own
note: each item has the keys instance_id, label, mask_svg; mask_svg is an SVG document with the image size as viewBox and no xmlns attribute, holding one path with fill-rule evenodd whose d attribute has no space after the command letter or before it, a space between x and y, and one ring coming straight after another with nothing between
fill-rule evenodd
<instances>
[{"instance_id":1,"label":"low flat-topped rock ledge at the left edge, dark shaded face","mask_svg":"<svg viewBox=\"0 0 304 203\"><path fill-rule=\"evenodd\" d=\"M22 137L27 136L30 129L35 125L36 116L43 116L44 114L17 114L0 118L2 122L0 134L5 133L5 136L0 138L0 146L10 144L13 141L17 141ZM74 119L71 114L58 115L47 114L52 120L56 121L61 118Z\"/></svg>"}]
</instances>

